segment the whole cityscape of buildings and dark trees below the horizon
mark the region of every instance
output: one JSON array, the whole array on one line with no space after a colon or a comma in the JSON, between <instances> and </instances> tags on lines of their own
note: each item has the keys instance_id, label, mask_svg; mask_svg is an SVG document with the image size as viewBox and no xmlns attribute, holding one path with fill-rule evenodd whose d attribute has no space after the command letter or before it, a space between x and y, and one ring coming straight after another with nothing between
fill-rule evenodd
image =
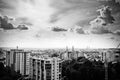
<instances>
[{"instance_id":1,"label":"whole cityscape of buildings and dark trees below the horizon","mask_svg":"<svg viewBox=\"0 0 120 80\"><path fill-rule=\"evenodd\" d=\"M74 47L66 47L64 49L37 50L16 47L15 49L1 49L0 69L3 73L1 75L4 77L0 79L73 80L76 78L76 80L117 80L119 79L120 67L119 53L120 48L75 49ZM6 75L2 69L6 69ZM106 69L108 70L107 73L105 72ZM112 69L117 74L114 74ZM81 73L82 70L83 73ZM92 70L95 72L91 72ZM107 79L105 75L107 75Z\"/></svg>"}]
</instances>

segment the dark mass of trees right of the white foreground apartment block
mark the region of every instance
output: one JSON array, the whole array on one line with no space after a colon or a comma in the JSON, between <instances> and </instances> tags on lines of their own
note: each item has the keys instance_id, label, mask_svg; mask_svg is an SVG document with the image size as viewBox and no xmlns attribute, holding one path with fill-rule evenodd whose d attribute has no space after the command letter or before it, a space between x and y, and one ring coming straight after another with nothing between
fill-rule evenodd
<instances>
[{"instance_id":1,"label":"dark mass of trees right of the white foreground apartment block","mask_svg":"<svg viewBox=\"0 0 120 80\"><path fill-rule=\"evenodd\" d=\"M105 67L101 61L89 61L84 57L62 63L63 80L105 80ZM120 63L108 65L108 80L120 80Z\"/></svg>"}]
</instances>

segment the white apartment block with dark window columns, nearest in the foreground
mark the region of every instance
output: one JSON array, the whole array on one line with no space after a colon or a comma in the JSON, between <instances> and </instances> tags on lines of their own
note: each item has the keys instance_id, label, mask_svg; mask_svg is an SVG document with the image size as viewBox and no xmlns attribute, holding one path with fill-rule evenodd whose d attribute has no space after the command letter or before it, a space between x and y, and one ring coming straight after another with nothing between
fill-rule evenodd
<instances>
[{"instance_id":1,"label":"white apartment block with dark window columns, nearest in the foreground","mask_svg":"<svg viewBox=\"0 0 120 80\"><path fill-rule=\"evenodd\" d=\"M30 77L33 80L61 80L62 61L57 57L30 58Z\"/></svg>"}]
</instances>

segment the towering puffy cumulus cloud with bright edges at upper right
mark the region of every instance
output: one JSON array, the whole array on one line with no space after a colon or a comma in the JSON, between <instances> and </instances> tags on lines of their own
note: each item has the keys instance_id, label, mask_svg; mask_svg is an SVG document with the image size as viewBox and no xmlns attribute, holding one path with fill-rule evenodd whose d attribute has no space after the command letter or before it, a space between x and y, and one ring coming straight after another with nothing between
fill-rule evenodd
<instances>
[{"instance_id":1,"label":"towering puffy cumulus cloud with bright edges at upper right","mask_svg":"<svg viewBox=\"0 0 120 80\"><path fill-rule=\"evenodd\" d=\"M90 21L90 30L93 34L107 34L112 33L109 30L108 25L114 23L115 19L111 15L111 9L109 6L104 6L97 10L100 15L94 20Z\"/></svg>"}]
</instances>

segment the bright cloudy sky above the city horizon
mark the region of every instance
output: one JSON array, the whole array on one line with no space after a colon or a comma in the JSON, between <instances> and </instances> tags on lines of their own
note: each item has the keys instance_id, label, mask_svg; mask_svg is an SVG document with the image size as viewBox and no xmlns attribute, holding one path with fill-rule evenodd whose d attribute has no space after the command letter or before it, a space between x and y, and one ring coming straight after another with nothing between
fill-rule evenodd
<instances>
[{"instance_id":1,"label":"bright cloudy sky above the city horizon","mask_svg":"<svg viewBox=\"0 0 120 80\"><path fill-rule=\"evenodd\" d=\"M0 0L0 47L116 48L119 2Z\"/></svg>"}]
</instances>

